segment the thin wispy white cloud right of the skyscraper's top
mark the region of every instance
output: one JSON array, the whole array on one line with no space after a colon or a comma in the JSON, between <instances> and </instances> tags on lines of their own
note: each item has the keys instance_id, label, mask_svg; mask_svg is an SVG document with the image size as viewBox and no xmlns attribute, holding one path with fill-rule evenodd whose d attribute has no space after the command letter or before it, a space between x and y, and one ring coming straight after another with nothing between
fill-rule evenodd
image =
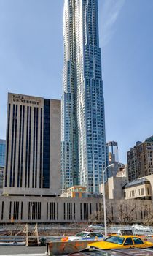
<instances>
[{"instance_id":1,"label":"thin wispy white cloud right of the skyscraper's top","mask_svg":"<svg viewBox=\"0 0 153 256\"><path fill-rule=\"evenodd\" d=\"M122 10L125 0L103 0L102 9L100 10L101 22L101 45L105 46L114 34L114 23L116 22L119 12Z\"/></svg>"}]
</instances>

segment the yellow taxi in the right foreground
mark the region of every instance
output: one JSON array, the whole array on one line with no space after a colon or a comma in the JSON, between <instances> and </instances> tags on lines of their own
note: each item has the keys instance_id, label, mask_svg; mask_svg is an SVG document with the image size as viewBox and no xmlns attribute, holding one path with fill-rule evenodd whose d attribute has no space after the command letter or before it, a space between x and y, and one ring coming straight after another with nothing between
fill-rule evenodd
<instances>
[{"instance_id":1,"label":"yellow taxi in the right foreground","mask_svg":"<svg viewBox=\"0 0 153 256\"><path fill-rule=\"evenodd\" d=\"M87 248L95 249L129 249L152 247L153 243L144 241L138 236L109 236L104 241L88 244Z\"/></svg>"}]
</instances>

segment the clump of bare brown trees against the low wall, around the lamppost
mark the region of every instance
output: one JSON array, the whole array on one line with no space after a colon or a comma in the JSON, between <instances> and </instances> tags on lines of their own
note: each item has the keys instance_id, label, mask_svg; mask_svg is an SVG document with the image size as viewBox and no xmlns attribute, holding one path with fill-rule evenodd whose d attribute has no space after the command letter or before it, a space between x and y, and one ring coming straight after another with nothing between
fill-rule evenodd
<instances>
[{"instance_id":1,"label":"clump of bare brown trees against the low wall, around the lamppost","mask_svg":"<svg viewBox=\"0 0 153 256\"><path fill-rule=\"evenodd\" d=\"M103 204L90 214L88 222L103 223ZM131 225L142 223L153 224L153 205L149 200L107 200L106 219L108 224L119 223Z\"/></svg>"}]
</instances>

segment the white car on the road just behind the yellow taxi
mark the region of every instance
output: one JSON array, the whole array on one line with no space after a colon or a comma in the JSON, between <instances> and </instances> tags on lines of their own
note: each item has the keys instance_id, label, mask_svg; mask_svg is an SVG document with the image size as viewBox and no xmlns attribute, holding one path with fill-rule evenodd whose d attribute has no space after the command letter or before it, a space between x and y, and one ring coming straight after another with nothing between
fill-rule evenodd
<instances>
[{"instance_id":1,"label":"white car on the road just behind the yellow taxi","mask_svg":"<svg viewBox=\"0 0 153 256\"><path fill-rule=\"evenodd\" d=\"M77 233L75 236L69 236L68 241L95 240L95 238L103 239L103 234L98 233L98 232L82 231L82 232Z\"/></svg>"}]
</instances>

